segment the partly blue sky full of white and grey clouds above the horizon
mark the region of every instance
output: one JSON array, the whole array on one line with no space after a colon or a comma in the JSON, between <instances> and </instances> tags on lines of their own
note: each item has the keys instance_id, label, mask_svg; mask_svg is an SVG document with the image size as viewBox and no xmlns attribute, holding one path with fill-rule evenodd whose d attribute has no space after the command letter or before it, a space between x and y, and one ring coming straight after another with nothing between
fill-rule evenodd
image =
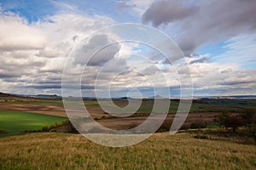
<instances>
[{"instance_id":1,"label":"partly blue sky full of white and grey clouds above the horizon","mask_svg":"<svg viewBox=\"0 0 256 170\"><path fill-rule=\"evenodd\" d=\"M84 97L177 97L190 76L194 96L255 95L255 8L255 0L0 0L0 92L76 96L61 94L68 67L67 86L80 78ZM124 23L172 37L184 57L167 62L147 44L125 42L125 30L95 33Z\"/></svg>"}]
</instances>

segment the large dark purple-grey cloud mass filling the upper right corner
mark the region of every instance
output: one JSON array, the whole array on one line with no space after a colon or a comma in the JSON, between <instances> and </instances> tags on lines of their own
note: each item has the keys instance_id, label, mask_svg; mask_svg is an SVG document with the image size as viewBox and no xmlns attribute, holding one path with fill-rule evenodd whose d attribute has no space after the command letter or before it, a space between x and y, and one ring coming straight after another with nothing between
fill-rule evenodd
<instances>
[{"instance_id":1,"label":"large dark purple-grey cloud mass filling the upper right corner","mask_svg":"<svg viewBox=\"0 0 256 170\"><path fill-rule=\"evenodd\" d=\"M143 22L160 26L177 22L177 42L186 55L207 42L256 30L255 0L208 0L196 4L185 1L159 1L143 14ZM189 1L186 1L189 3ZM190 1L192 2L192 1Z\"/></svg>"}]
</instances>

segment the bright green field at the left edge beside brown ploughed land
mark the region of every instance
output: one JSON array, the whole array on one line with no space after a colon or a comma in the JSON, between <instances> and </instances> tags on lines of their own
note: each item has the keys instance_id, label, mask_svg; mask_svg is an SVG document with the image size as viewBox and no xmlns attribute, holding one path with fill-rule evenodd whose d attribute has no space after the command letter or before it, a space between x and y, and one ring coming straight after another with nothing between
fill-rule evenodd
<instances>
[{"instance_id":1,"label":"bright green field at the left edge beside brown ploughed land","mask_svg":"<svg viewBox=\"0 0 256 170\"><path fill-rule=\"evenodd\" d=\"M67 117L49 116L20 111L0 111L0 129L7 133L20 133L24 130L39 130L40 128L66 121Z\"/></svg>"}]
</instances>

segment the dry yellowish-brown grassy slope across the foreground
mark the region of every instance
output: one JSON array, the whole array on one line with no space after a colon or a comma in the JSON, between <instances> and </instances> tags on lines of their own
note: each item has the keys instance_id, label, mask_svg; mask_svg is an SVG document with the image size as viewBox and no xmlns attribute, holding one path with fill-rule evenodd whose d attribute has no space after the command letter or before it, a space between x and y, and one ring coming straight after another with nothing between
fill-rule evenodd
<instances>
[{"instance_id":1,"label":"dry yellowish-brown grassy slope across the foreground","mask_svg":"<svg viewBox=\"0 0 256 170\"><path fill-rule=\"evenodd\" d=\"M0 169L255 169L256 146L156 133L109 148L79 134L33 133L0 139Z\"/></svg>"}]
</instances>

